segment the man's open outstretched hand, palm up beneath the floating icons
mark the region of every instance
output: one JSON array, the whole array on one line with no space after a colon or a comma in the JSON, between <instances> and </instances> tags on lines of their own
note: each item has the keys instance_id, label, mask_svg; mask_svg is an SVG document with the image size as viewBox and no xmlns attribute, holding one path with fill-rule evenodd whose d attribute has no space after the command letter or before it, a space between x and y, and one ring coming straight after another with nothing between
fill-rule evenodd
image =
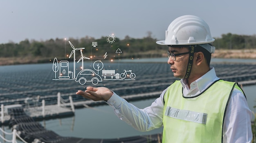
<instances>
[{"instance_id":1,"label":"man's open outstretched hand, palm up beneath the floating icons","mask_svg":"<svg viewBox=\"0 0 256 143\"><path fill-rule=\"evenodd\" d=\"M77 91L76 94L94 101L108 101L113 95L113 92L106 87L87 87L85 91Z\"/></svg>"}]
</instances>

